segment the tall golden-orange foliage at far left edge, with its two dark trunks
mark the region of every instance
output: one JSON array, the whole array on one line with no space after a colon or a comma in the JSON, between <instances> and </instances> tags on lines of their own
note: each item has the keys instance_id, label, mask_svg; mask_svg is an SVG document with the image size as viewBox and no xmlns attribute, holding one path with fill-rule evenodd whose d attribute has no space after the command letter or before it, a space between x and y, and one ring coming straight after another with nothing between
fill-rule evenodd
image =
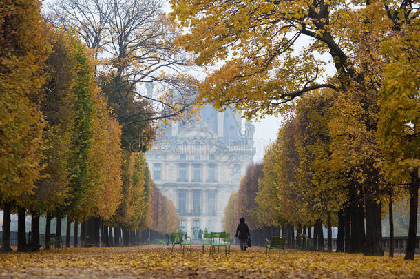
<instances>
[{"instance_id":1,"label":"tall golden-orange foliage at far left edge, with its two dark trunks","mask_svg":"<svg viewBox=\"0 0 420 279\"><path fill-rule=\"evenodd\" d=\"M43 130L39 111L41 68L50 44L41 20L41 3L0 3L0 203L4 211L2 251L10 251L10 213L19 207L19 251L25 244L23 196L33 194L43 166ZM23 219L22 219L23 218Z\"/></svg>"}]
</instances>

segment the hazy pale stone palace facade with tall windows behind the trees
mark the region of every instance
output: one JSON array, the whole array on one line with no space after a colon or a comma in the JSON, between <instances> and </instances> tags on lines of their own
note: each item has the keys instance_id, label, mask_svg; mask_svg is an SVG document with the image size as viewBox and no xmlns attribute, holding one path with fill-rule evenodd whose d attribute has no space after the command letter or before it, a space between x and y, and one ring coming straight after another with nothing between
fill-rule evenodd
<instances>
[{"instance_id":1,"label":"hazy pale stone palace facade with tall windows behind the trees","mask_svg":"<svg viewBox=\"0 0 420 279\"><path fill-rule=\"evenodd\" d=\"M232 110L207 105L199 121L171 123L165 130L146 154L154 183L174 202L187 236L222 231L224 207L253 161L253 125Z\"/></svg>"}]
</instances>

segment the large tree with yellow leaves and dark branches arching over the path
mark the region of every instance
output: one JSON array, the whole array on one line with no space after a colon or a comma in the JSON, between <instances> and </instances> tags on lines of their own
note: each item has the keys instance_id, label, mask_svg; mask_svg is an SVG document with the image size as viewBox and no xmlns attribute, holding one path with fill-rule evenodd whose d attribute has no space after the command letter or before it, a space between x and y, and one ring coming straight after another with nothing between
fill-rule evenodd
<instances>
[{"instance_id":1,"label":"large tree with yellow leaves and dark branches arching over the path","mask_svg":"<svg viewBox=\"0 0 420 279\"><path fill-rule=\"evenodd\" d=\"M418 17L413 1L171 1L174 18L187 34L177 39L196 54L198 65L217 65L200 85L199 99L222 109L235 105L247 118L282 112L282 104L305 92L331 88L361 105L356 136L371 140L377 125L375 94L381 87L378 42ZM310 39L302 45L301 38ZM335 76L326 75L325 56ZM367 103L365 103L367 102ZM368 119L368 121L364 121ZM353 126L353 127L357 127ZM367 154L366 154L367 155ZM368 207L366 254L380 244L379 170L362 157ZM363 178L361 178L363 179Z\"/></svg>"}]
</instances>

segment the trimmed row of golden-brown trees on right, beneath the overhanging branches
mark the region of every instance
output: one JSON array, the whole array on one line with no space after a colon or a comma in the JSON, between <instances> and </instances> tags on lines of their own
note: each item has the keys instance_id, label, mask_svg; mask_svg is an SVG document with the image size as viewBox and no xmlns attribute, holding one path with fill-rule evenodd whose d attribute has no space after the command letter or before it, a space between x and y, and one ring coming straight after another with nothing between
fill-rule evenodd
<instances>
[{"instance_id":1,"label":"trimmed row of golden-brown trees on right, beneath the overhanging branches","mask_svg":"<svg viewBox=\"0 0 420 279\"><path fill-rule=\"evenodd\" d=\"M379 241L381 248L381 231L370 236L376 239L369 239L372 224L366 221L365 228L364 222L372 213L366 201L375 194L378 205L388 205L379 207L379 216L389 214L390 256L393 256L392 203L410 198L409 177L402 180L406 184L390 183L388 162L379 143L353 146L352 152L346 152L352 146L348 141L355 144L355 138L344 139L343 132L357 127L350 126L350 112L343 110L344 104L335 105L333 96L333 92L326 91L307 94L291 107L276 141L266 150L264 163L250 165L239 191L231 195L224 212L227 231L234 234L239 218L245 217L250 229L260 230L260 234L264 234L262 227L281 227L291 247L324 251L324 225L328 231L327 251L332 251L331 227L335 226L337 251L369 255L369 246L373 245L368 241ZM354 110L351 114L357 115ZM346 117L348 127L337 125L342 117ZM361 163L364 156L375 158L375 169L364 169ZM372 193L375 184L371 172L375 170L377 188ZM302 239L311 239L312 227L313 242L309 247L310 242ZM412 245L407 247L408 253L414 251L415 242Z\"/></svg>"}]
</instances>

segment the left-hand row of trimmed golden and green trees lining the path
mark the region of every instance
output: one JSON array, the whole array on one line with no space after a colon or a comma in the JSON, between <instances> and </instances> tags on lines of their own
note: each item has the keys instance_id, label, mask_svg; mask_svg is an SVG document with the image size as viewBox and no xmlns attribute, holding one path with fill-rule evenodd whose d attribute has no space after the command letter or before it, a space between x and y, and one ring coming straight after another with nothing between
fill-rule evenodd
<instances>
[{"instance_id":1,"label":"left-hand row of trimmed golden and green trees lining the path","mask_svg":"<svg viewBox=\"0 0 420 279\"><path fill-rule=\"evenodd\" d=\"M82 223L83 242L94 245L99 245L100 232L107 236L111 231L108 227L122 228L123 239L130 230L165 227L162 220L152 224L147 218L151 210L176 216L171 203L152 202L153 187L142 153L154 140L147 101L134 98L135 87L120 88L128 100L124 110L134 110L138 120L131 120L133 125L122 123L117 116L123 112L116 114L119 102L109 101L113 75L100 76L95 54L78 33L52 28L40 9L36 0L0 4L2 251L11 251L10 214L15 212L19 251L38 249L41 215L47 216L46 249L53 216L57 236L61 219L67 216L67 245L72 220L74 236ZM136 134L143 135L143 141L132 152L129 143ZM29 246L27 213L32 215ZM176 229L174 224L169 228Z\"/></svg>"}]
</instances>

